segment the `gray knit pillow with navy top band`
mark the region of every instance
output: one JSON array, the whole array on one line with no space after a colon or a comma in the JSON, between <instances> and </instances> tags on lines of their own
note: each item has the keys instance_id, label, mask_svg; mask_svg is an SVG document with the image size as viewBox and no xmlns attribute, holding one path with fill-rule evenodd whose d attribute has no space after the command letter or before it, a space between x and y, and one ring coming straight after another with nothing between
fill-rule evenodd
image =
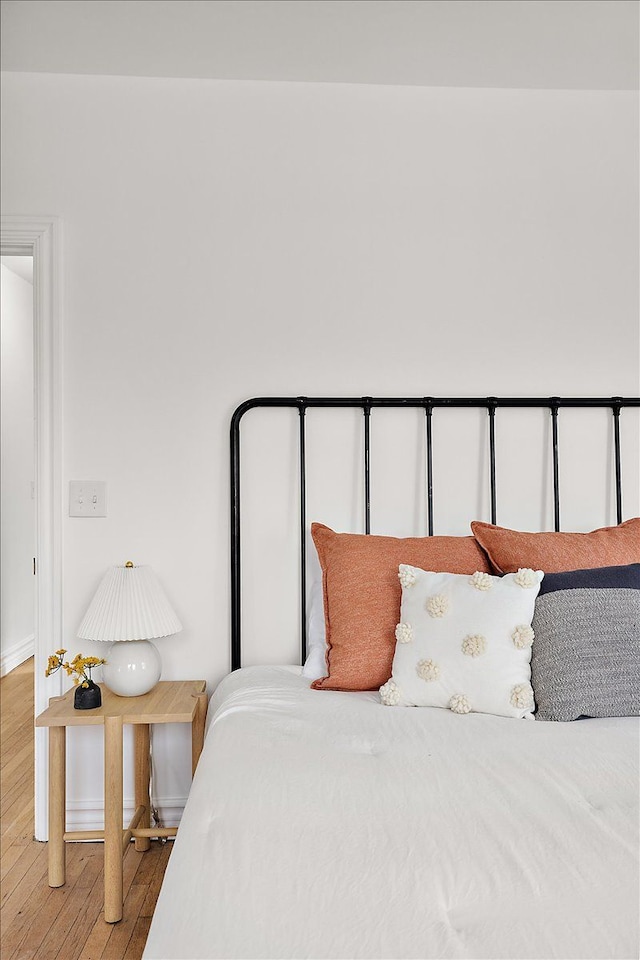
<instances>
[{"instance_id":1,"label":"gray knit pillow with navy top band","mask_svg":"<svg viewBox=\"0 0 640 960\"><path fill-rule=\"evenodd\" d=\"M533 630L537 720L640 714L640 563L547 574Z\"/></svg>"}]
</instances>

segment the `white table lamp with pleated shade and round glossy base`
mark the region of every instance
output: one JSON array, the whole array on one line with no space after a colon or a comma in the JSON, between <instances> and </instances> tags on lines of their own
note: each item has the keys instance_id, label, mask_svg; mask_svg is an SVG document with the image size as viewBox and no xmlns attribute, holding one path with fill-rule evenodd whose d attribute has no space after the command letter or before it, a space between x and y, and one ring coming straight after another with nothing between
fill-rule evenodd
<instances>
[{"instance_id":1,"label":"white table lamp with pleated shade and round glossy base","mask_svg":"<svg viewBox=\"0 0 640 960\"><path fill-rule=\"evenodd\" d=\"M155 687L162 673L160 654L149 641L179 630L182 624L151 567L129 561L107 571L78 636L111 641L104 682L120 697L139 697Z\"/></svg>"}]
</instances>

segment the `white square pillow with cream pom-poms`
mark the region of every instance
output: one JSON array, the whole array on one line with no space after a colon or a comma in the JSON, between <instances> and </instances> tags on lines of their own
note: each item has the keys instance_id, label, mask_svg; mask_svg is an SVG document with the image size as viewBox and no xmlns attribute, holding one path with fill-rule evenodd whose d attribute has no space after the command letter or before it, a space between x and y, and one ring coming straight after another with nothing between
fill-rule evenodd
<instances>
[{"instance_id":1,"label":"white square pillow with cream pom-poms","mask_svg":"<svg viewBox=\"0 0 640 960\"><path fill-rule=\"evenodd\" d=\"M387 706L532 717L531 621L544 574L432 573L401 564Z\"/></svg>"}]
</instances>

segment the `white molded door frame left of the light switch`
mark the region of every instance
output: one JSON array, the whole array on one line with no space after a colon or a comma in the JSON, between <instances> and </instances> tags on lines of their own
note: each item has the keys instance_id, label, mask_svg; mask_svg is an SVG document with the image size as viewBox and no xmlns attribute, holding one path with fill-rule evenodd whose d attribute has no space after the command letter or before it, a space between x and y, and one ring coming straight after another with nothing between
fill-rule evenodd
<instances>
[{"instance_id":1,"label":"white molded door frame left of the light switch","mask_svg":"<svg viewBox=\"0 0 640 960\"><path fill-rule=\"evenodd\" d=\"M62 642L62 225L58 217L2 216L3 256L33 256L35 443L35 713L62 692L45 679ZM46 840L46 731L35 733L35 837Z\"/></svg>"}]
</instances>

